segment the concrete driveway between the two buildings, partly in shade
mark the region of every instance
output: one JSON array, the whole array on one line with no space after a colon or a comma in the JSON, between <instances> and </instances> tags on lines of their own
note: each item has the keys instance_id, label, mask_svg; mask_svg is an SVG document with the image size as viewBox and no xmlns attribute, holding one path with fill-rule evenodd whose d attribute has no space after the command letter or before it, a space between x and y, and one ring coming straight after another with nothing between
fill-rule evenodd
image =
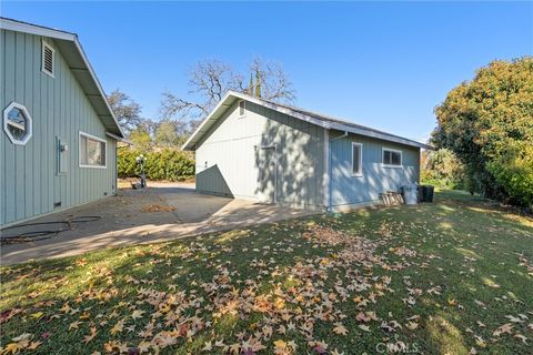
<instances>
[{"instance_id":1,"label":"concrete driveway between the two buildings, partly in shade","mask_svg":"<svg viewBox=\"0 0 533 355\"><path fill-rule=\"evenodd\" d=\"M167 211L152 212L161 206ZM104 247L170 241L312 213L199 194L191 184L152 183L151 187L144 191L121 190L119 196L31 221L56 222L79 216L100 216L95 222L73 223L70 226L61 223L47 224L2 232L3 235L13 235L29 231L67 229L47 240L2 245L1 264L70 256Z\"/></svg>"}]
</instances>

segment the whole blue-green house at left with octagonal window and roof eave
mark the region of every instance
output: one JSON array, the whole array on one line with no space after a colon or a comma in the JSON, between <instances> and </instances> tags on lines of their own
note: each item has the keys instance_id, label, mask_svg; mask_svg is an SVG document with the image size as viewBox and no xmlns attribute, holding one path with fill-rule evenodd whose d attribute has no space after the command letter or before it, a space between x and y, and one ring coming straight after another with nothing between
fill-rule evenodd
<instances>
[{"instance_id":1,"label":"whole blue-green house at left with octagonal window and roof eave","mask_svg":"<svg viewBox=\"0 0 533 355\"><path fill-rule=\"evenodd\" d=\"M117 192L122 131L74 33L0 18L2 226Z\"/></svg>"}]
</instances>

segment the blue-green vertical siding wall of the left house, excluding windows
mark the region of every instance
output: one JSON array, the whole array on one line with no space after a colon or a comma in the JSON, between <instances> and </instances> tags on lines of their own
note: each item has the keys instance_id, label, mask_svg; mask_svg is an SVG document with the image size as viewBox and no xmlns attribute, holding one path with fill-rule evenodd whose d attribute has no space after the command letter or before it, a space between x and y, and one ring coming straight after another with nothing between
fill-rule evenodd
<instances>
[{"instance_id":1,"label":"blue-green vertical siding wall of the left house, excluding windows","mask_svg":"<svg viewBox=\"0 0 533 355\"><path fill-rule=\"evenodd\" d=\"M14 145L0 133L0 224L30 219L115 193L115 140L105 130L52 39L54 78L41 71L42 38L1 30L0 105L23 104L32 138ZM79 132L105 139L107 169L79 168ZM61 154L57 139L68 144Z\"/></svg>"}]
</instances>

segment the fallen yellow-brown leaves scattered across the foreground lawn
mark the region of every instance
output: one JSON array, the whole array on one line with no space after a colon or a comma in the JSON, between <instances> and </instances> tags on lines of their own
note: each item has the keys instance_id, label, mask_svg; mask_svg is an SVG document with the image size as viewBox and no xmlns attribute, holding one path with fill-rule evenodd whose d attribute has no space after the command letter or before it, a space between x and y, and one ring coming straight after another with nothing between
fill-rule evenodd
<instances>
[{"instance_id":1,"label":"fallen yellow-brown leaves scattered across the foreground lawn","mask_svg":"<svg viewBox=\"0 0 533 355\"><path fill-rule=\"evenodd\" d=\"M419 307L423 306L424 298L440 298L440 307L462 312L460 302L464 300L451 295L446 285L430 283L419 288L415 276L399 276L399 271L413 265L430 267L439 256L422 255L412 245L398 245L395 232L386 223L380 227L381 237L375 240L320 224L305 225L304 232L300 232L302 225L296 223L292 226L294 230L284 227L291 239L264 245L234 247L223 239L214 244L198 239L174 250L159 244L127 252L144 258L128 266L143 270L141 274L127 272L118 276L112 267L79 258L73 265L77 271L87 272L87 287L74 301L58 301L57 307L62 306L53 307L54 312L48 312L48 306L13 308L2 312L2 322L21 312L32 322L47 320L50 325L62 322L69 333L79 334L81 342L98 346L102 353L157 353L201 339L194 349L197 354L342 354L342 351L350 353L352 338L375 334L419 335L425 326L425 320L418 315L422 314ZM274 225L272 231L275 229ZM254 233L245 231L232 237L257 237ZM303 247L320 253L298 257L291 254ZM239 261L244 272L235 267L234 261L224 258L234 254L247 255ZM187 264L201 265L209 276L184 272ZM165 270L164 277L169 280L164 284L158 280L163 277L160 268ZM183 274L187 274L185 283ZM378 312L384 298L391 297L405 314ZM87 306L89 303L113 306L101 312ZM473 306L490 305L475 301ZM239 331L223 329L230 321L241 326ZM515 338L516 343L527 343L527 333L523 329L526 324L532 326L526 315L509 315L504 322L509 323L496 329L481 322L473 324L472 328L481 334L472 332L475 346L486 347L504 335ZM318 335L323 335L324 329L326 341ZM330 337L344 348L329 348L328 343L333 344ZM39 339L47 342L48 336ZM17 353L40 345L27 337L13 338L2 351Z\"/></svg>"}]
</instances>

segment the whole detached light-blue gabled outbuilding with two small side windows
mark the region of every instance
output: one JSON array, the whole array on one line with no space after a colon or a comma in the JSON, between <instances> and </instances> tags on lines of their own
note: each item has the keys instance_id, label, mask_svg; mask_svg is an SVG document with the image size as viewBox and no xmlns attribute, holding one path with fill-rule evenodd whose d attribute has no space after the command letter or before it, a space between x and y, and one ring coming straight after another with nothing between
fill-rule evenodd
<instances>
[{"instance_id":1,"label":"whole detached light-blue gabled outbuilding with two small side windows","mask_svg":"<svg viewBox=\"0 0 533 355\"><path fill-rule=\"evenodd\" d=\"M431 148L230 91L183 149L195 151L199 192L335 211L419 182Z\"/></svg>"}]
</instances>

